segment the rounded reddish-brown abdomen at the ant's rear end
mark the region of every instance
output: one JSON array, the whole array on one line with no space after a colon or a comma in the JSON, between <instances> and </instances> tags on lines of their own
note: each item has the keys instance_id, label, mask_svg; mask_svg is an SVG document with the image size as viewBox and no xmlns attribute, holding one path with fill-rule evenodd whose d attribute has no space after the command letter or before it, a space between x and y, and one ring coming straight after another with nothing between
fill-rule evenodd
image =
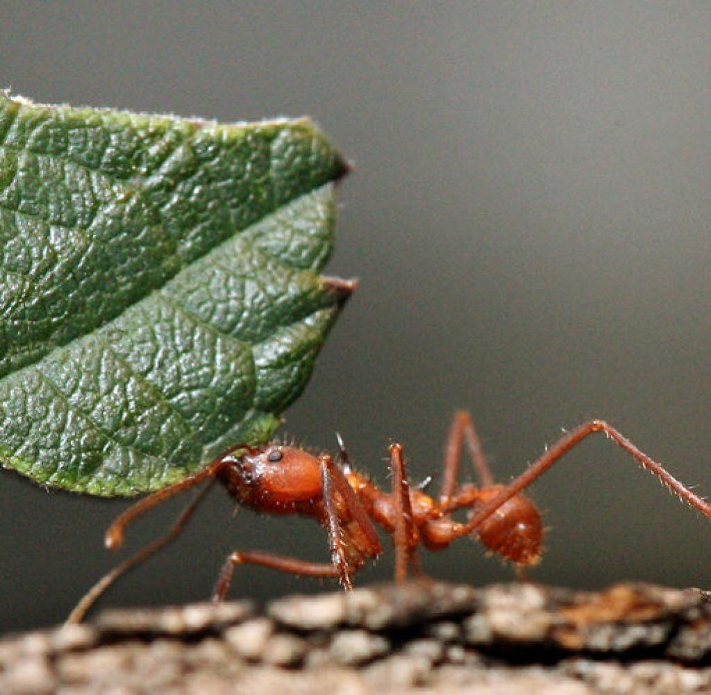
<instances>
[{"instance_id":1,"label":"rounded reddish-brown abdomen at the ant's rear end","mask_svg":"<svg viewBox=\"0 0 711 695\"><path fill-rule=\"evenodd\" d=\"M482 504L496 497L503 485L480 490ZM481 542L492 553L517 565L533 565L540 559L543 524L533 502L524 495L511 497L476 529Z\"/></svg>"}]
</instances>

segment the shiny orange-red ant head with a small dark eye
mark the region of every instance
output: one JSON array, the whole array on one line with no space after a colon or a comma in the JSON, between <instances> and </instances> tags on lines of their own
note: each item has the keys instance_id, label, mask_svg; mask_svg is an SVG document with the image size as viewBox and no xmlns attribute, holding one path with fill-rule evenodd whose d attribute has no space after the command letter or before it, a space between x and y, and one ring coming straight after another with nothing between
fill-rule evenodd
<instances>
[{"instance_id":1,"label":"shiny orange-red ant head with a small dark eye","mask_svg":"<svg viewBox=\"0 0 711 695\"><path fill-rule=\"evenodd\" d=\"M243 500L279 505L310 500L321 493L321 463L294 446L270 443L235 457L233 470Z\"/></svg>"}]
</instances>

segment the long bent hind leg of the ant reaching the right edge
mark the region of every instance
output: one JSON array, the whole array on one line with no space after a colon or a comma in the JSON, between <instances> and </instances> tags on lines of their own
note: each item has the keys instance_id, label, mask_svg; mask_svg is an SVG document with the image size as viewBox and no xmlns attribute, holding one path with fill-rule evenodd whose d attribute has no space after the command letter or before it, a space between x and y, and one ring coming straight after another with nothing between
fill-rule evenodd
<instances>
[{"instance_id":1,"label":"long bent hind leg of the ant reaching the right edge","mask_svg":"<svg viewBox=\"0 0 711 695\"><path fill-rule=\"evenodd\" d=\"M680 500L686 502L690 507L695 507L695 509L702 512L702 514L711 518L711 504L709 504L709 502L696 495L692 490L689 490L683 483L680 483L680 481L668 473L660 463L657 463L647 456L646 453L634 446L628 438L614 429L614 427L602 420L590 420L562 436L548 451L535 461L528 470L523 471L518 478L514 478L491 502L483 505L481 509L472 514L471 519L457 529L455 537L464 536L474 531L484 519L493 514L493 512L496 512L504 502L510 500L514 495L518 495L525 487L533 483L539 475L545 473L561 456L570 451L593 432L604 432L607 438L614 441L614 443L629 453L644 470L648 470L650 473L656 475L657 478L661 480L661 483L666 485Z\"/></svg>"}]
</instances>

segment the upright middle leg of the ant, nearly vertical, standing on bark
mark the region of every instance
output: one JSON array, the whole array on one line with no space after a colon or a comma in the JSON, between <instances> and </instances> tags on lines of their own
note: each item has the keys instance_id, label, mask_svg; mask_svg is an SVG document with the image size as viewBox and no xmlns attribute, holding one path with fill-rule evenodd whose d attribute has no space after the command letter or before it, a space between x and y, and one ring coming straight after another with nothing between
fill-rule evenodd
<instances>
[{"instance_id":1,"label":"upright middle leg of the ant, nearly vertical, standing on bark","mask_svg":"<svg viewBox=\"0 0 711 695\"><path fill-rule=\"evenodd\" d=\"M402 456L402 444L390 445L390 470L392 472L392 497L395 501L395 529L392 540L395 543L395 581L402 583L407 579L407 569L419 575L417 546L419 532L415 527L410 500L410 483L405 470L405 457Z\"/></svg>"}]
</instances>

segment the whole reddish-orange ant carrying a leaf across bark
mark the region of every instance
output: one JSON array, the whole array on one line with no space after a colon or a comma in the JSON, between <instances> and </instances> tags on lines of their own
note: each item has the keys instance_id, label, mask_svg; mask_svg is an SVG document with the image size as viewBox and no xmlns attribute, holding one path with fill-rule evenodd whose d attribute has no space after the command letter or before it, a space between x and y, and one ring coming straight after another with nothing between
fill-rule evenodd
<instances>
[{"instance_id":1,"label":"whole reddish-orange ant carrying a leaf across bark","mask_svg":"<svg viewBox=\"0 0 711 695\"><path fill-rule=\"evenodd\" d=\"M486 463L481 442L471 417L459 411L447 438L442 490L434 499L410 487L405 472L402 445L390 445L392 492L383 492L363 473L353 470L340 436L340 452L314 456L307 451L279 443L259 447L238 447L210 463L199 473L176 485L159 490L121 514L106 532L107 548L118 549L128 524L144 512L188 487L204 480L220 480L232 497L257 512L301 514L313 517L328 530L331 563L309 562L260 550L235 551L223 566L213 600L223 600L235 565L256 564L282 572L311 577L338 577L351 588L351 575L368 559L382 551L375 524L392 534L395 544L395 581L405 581L409 572L419 575L417 548L442 550L459 537L476 533L492 553L512 562L517 569L540 560L543 534L540 512L522 493L567 451L593 432L603 432L621 446L645 470L656 475L681 500L711 517L711 505L673 478L659 463L640 451L629 439L602 420L590 420L562 436L523 473L508 485L497 485ZM459 460L466 443L479 475L481 487L459 485ZM427 481L426 481L427 482ZM78 623L92 603L124 571L139 564L175 538L195 511L210 485L196 497L170 531L119 564L93 586L68 618ZM452 513L469 510L466 522Z\"/></svg>"}]
</instances>

